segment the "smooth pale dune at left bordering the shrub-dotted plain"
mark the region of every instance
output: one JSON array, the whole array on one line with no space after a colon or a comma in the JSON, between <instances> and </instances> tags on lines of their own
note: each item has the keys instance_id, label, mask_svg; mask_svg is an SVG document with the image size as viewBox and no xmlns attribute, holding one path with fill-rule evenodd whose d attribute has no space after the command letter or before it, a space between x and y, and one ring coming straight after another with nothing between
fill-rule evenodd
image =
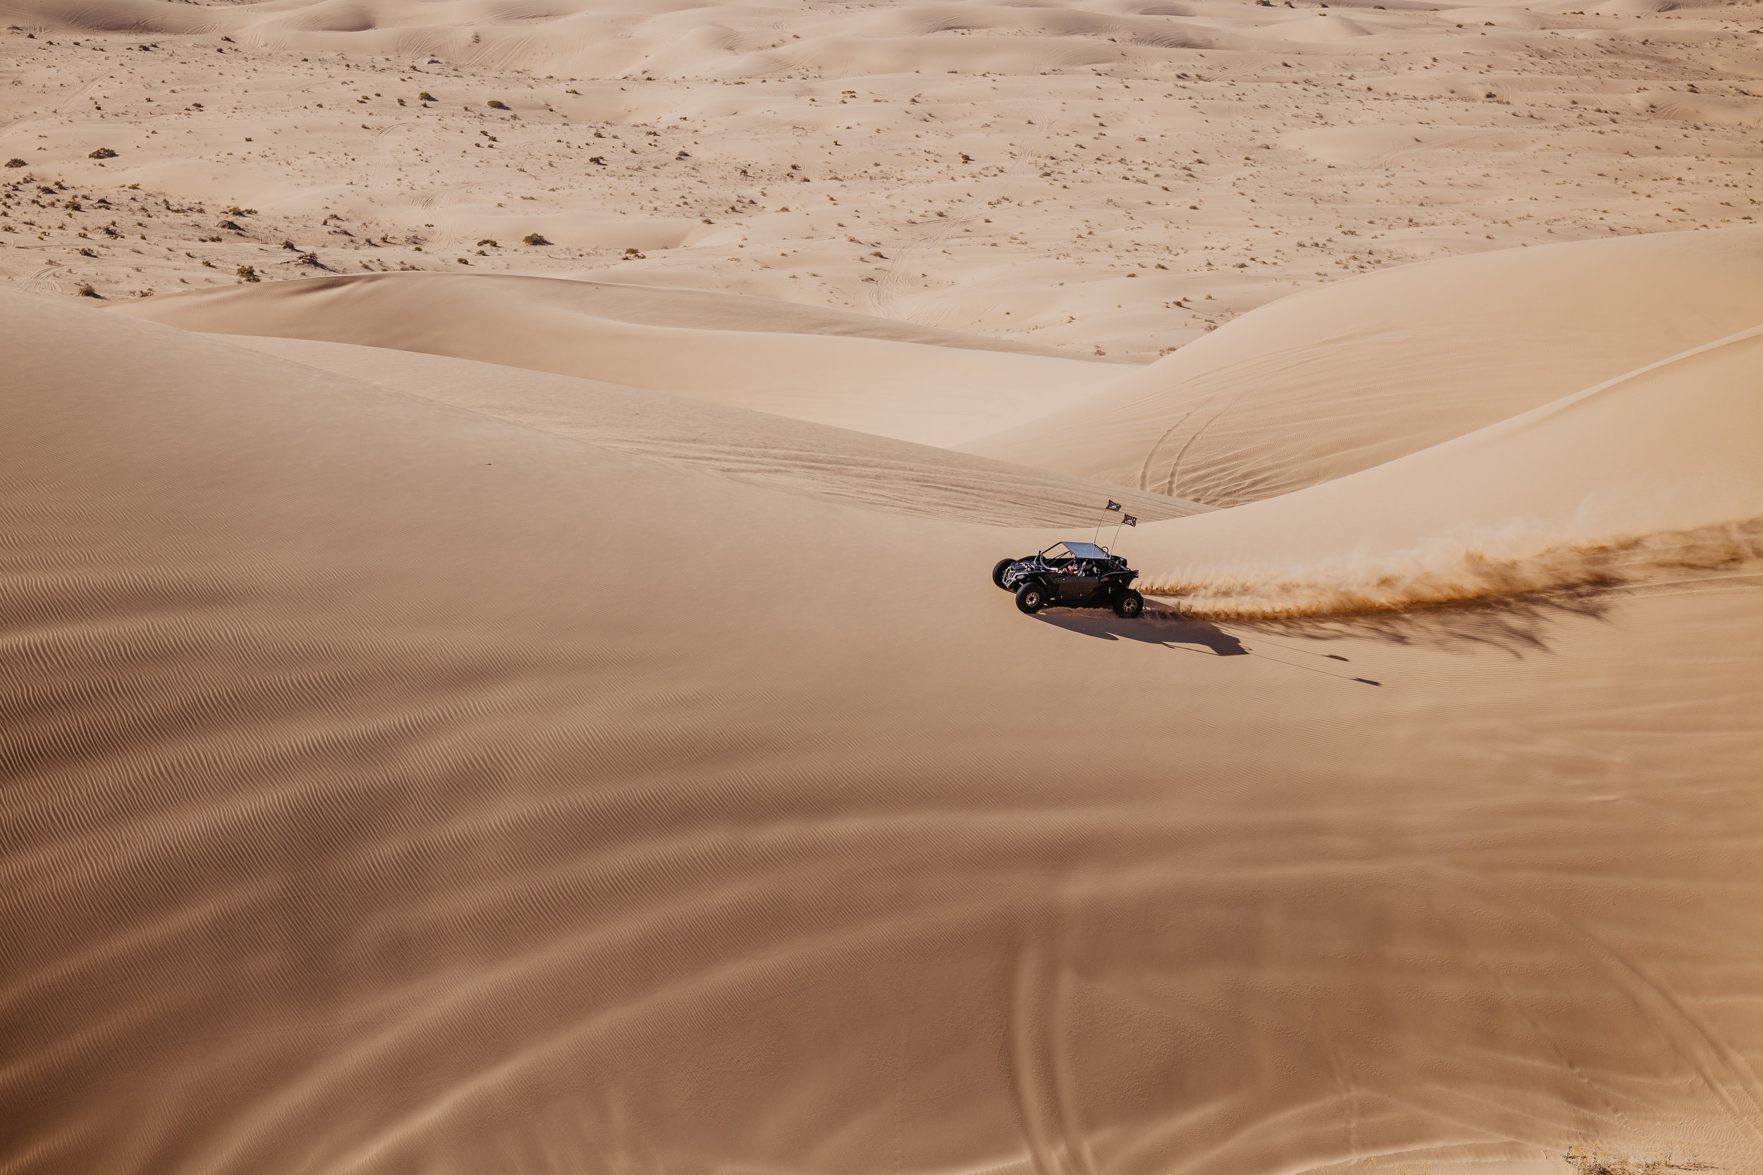
<instances>
[{"instance_id":1,"label":"smooth pale dune at left bordering the shrub-dotted plain","mask_svg":"<svg viewBox=\"0 0 1763 1175\"><path fill-rule=\"evenodd\" d=\"M624 317L606 317L621 301L614 314ZM150 298L116 312L192 331L525 366L922 444L1044 416L1120 375L1116 365L945 345L959 338L952 331L901 328L911 342L857 335L855 314L561 278L374 273ZM815 324L846 333L800 333Z\"/></svg>"}]
</instances>

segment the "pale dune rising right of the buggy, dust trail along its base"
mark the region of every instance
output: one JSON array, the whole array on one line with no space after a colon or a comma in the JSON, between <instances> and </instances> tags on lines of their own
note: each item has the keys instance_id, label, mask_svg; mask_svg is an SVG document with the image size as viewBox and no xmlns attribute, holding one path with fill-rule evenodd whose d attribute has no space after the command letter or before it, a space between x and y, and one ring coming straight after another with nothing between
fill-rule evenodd
<instances>
[{"instance_id":1,"label":"pale dune rising right of the buggy, dust trail along its base","mask_svg":"<svg viewBox=\"0 0 1763 1175\"><path fill-rule=\"evenodd\" d=\"M1183 595L1201 615L1585 587L1622 557L1641 580L1710 567L1756 576L1759 446L1763 326L1386 465L1220 511L1229 527L1151 527L1139 562L1190 567L1151 571L1146 590Z\"/></svg>"}]
</instances>

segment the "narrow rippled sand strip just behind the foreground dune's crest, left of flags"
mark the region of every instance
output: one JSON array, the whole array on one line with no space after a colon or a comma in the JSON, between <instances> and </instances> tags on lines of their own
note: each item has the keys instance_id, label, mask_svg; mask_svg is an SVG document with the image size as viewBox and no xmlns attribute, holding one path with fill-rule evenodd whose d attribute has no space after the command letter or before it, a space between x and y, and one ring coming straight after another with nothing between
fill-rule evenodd
<instances>
[{"instance_id":1,"label":"narrow rippled sand strip just behind the foreground dune's crest, left of flags","mask_svg":"<svg viewBox=\"0 0 1763 1175\"><path fill-rule=\"evenodd\" d=\"M1095 527L1120 500L1144 521L1209 506L785 416L548 372L305 338L233 342L338 375L596 446L901 514Z\"/></svg>"}]
</instances>

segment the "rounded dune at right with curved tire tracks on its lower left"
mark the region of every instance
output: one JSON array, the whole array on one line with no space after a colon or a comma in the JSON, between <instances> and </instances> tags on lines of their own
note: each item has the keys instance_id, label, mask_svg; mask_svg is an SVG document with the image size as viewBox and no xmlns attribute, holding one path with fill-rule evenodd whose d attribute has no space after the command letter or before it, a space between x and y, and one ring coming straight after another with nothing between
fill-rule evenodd
<instances>
[{"instance_id":1,"label":"rounded dune at right with curved tire tracks on its lower left","mask_svg":"<svg viewBox=\"0 0 1763 1175\"><path fill-rule=\"evenodd\" d=\"M1763 322L1763 229L1350 278L963 447L1213 506L1291 493Z\"/></svg>"}]
</instances>

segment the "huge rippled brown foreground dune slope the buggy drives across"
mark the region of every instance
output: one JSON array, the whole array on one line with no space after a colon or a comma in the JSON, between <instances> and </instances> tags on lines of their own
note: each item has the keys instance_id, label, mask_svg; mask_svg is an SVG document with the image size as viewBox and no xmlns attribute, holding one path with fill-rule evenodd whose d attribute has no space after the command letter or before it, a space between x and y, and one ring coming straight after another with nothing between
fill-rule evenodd
<instances>
[{"instance_id":1,"label":"huge rippled brown foreground dune slope the buggy drives across","mask_svg":"<svg viewBox=\"0 0 1763 1175\"><path fill-rule=\"evenodd\" d=\"M1379 691L1024 618L1056 532L0 310L9 1170L1763 1157L1752 601Z\"/></svg>"}]
</instances>

